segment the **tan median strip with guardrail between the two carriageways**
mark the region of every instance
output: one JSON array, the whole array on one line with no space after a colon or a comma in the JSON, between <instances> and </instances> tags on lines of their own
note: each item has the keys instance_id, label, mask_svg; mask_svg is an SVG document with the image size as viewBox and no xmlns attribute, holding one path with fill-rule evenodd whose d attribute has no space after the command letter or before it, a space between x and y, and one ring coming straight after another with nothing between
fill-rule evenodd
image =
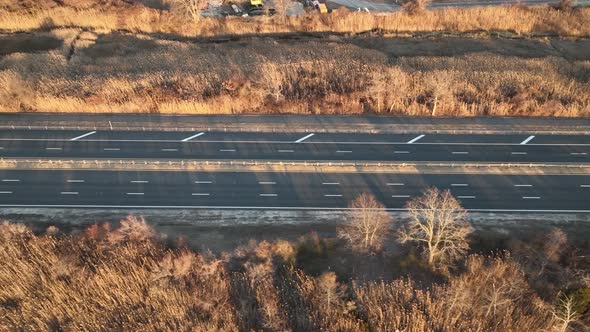
<instances>
[{"instance_id":1,"label":"tan median strip with guardrail between the two carriageways","mask_svg":"<svg viewBox=\"0 0 590 332\"><path fill-rule=\"evenodd\" d=\"M0 169L18 170L116 170L193 172L310 172L310 173L405 173L405 174L522 174L586 175L587 164L508 163L365 163L285 161L192 161L192 160L63 160L0 159Z\"/></svg>"}]
</instances>

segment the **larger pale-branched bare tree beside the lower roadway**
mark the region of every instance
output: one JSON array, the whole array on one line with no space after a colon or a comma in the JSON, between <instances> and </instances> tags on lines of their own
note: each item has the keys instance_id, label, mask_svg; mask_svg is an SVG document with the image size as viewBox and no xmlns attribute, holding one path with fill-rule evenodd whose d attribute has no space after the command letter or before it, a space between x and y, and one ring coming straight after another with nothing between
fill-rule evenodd
<instances>
[{"instance_id":1,"label":"larger pale-branched bare tree beside the lower roadway","mask_svg":"<svg viewBox=\"0 0 590 332\"><path fill-rule=\"evenodd\" d=\"M428 264L437 267L463 256L472 232L467 211L449 191L436 188L407 204L410 221L398 232L401 243L419 244Z\"/></svg>"}]
</instances>

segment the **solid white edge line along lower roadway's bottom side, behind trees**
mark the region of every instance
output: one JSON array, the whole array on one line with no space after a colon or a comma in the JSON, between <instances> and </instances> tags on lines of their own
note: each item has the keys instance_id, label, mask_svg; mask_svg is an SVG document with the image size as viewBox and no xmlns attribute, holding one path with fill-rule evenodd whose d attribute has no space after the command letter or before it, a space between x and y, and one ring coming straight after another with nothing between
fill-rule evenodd
<instances>
[{"instance_id":1,"label":"solid white edge line along lower roadway's bottom side, behind trees","mask_svg":"<svg viewBox=\"0 0 590 332\"><path fill-rule=\"evenodd\" d=\"M222 209L222 210L314 210L314 211L351 211L355 208L329 207L285 207L285 206L215 206L215 205L84 205L84 204L0 204L3 208L97 208L97 209ZM386 208L386 211L408 211L406 208ZM471 212L528 212L528 213L590 213L590 210L527 210L527 209L466 209Z\"/></svg>"}]
</instances>

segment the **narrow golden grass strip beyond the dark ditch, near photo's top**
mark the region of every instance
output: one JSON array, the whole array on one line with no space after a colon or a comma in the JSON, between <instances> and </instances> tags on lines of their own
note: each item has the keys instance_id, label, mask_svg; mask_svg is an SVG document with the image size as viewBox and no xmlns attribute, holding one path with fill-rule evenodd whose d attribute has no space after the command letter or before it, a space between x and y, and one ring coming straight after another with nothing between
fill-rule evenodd
<instances>
[{"instance_id":1,"label":"narrow golden grass strip beyond the dark ditch, near photo's top","mask_svg":"<svg viewBox=\"0 0 590 332\"><path fill-rule=\"evenodd\" d=\"M279 32L394 32L515 31L523 34L590 35L590 9L558 11L537 7L481 7L425 11L419 15L393 13L376 16L340 10L332 15L203 19L188 22L172 11L135 5L121 7L54 7L38 10L0 10L0 30L27 31L78 27L133 32L174 33L181 36L264 34Z\"/></svg>"}]
</instances>

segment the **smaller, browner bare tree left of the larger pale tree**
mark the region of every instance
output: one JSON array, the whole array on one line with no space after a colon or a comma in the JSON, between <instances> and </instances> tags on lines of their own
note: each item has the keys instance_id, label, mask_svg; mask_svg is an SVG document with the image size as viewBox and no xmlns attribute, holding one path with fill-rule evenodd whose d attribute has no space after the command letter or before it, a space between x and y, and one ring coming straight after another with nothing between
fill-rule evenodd
<instances>
[{"instance_id":1,"label":"smaller, browner bare tree left of the larger pale tree","mask_svg":"<svg viewBox=\"0 0 590 332\"><path fill-rule=\"evenodd\" d=\"M338 236L346 239L355 250L375 252L383 247L383 241L392 223L391 216L375 196L363 193L349 205L352 209Z\"/></svg>"}]
</instances>

